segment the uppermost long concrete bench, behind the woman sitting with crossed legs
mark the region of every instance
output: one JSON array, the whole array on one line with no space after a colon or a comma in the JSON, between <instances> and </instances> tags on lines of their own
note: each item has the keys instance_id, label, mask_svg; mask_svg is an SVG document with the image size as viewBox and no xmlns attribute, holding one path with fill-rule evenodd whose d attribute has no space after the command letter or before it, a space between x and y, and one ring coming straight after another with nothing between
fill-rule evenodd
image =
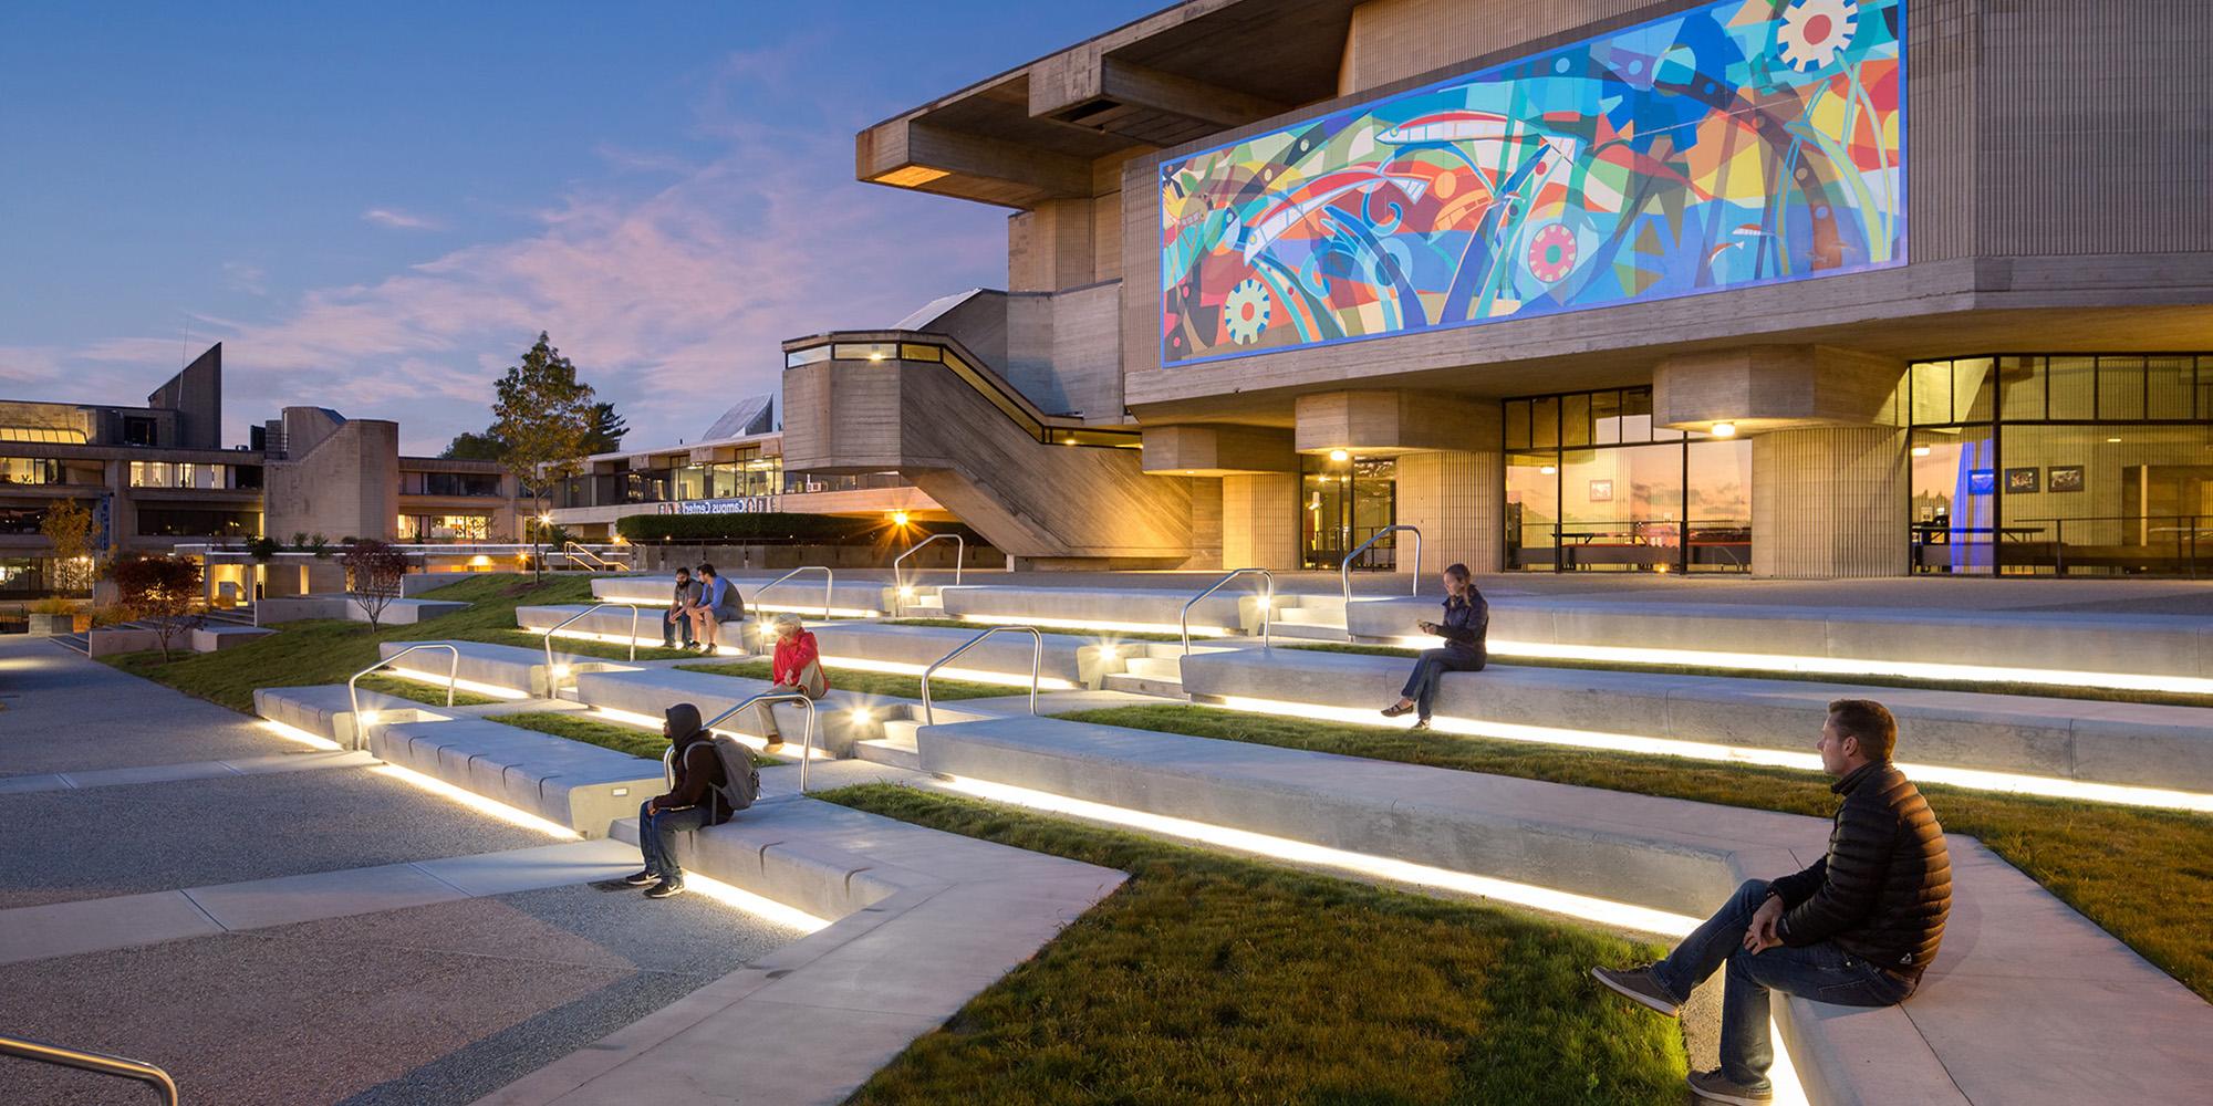
<instances>
[{"instance_id":1,"label":"uppermost long concrete bench, behind the woman sitting with crossed legs","mask_svg":"<svg viewBox=\"0 0 2213 1106\"><path fill-rule=\"evenodd\" d=\"M1354 599L1359 639L1419 635L1441 597ZM1695 602L1496 599L1492 648L1604 646L1877 664L2213 679L2213 624L2180 615L1870 611Z\"/></svg>"}]
</instances>

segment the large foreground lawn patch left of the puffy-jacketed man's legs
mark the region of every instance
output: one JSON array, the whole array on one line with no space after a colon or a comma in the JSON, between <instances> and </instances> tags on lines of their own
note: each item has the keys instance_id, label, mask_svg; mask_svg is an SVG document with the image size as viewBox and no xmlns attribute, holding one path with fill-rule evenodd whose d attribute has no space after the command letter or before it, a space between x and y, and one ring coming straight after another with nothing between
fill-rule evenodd
<instances>
[{"instance_id":1,"label":"large foreground lawn patch left of the puffy-jacketed man's legs","mask_svg":"<svg viewBox=\"0 0 2213 1106\"><path fill-rule=\"evenodd\" d=\"M892 785L832 803L1129 872L852 1104L1682 1102L1675 1024L1596 929Z\"/></svg>"}]
</instances>

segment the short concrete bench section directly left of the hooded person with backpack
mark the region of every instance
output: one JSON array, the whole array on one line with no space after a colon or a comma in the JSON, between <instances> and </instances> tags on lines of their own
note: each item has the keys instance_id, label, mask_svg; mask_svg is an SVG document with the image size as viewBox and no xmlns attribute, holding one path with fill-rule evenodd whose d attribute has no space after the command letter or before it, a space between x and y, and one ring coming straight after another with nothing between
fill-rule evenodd
<instances>
[{"instance_id":1,"label":"short concrete bench section directly left of the hooded person with backpack","mask_svg":"<svg viewBox=\"0 0 2213 1106\"><path fill-rule=\"evenodd\" d=\"M659 761L485 719L370 726L370 752L465 792L606 836L664 790Z\"/></svg>"}]
</instances>

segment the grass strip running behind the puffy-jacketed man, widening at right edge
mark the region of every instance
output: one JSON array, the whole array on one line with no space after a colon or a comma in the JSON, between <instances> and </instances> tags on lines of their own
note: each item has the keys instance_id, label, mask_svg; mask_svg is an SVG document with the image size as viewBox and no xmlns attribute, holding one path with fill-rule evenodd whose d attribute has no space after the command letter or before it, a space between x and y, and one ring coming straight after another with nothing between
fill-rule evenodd
<instances>
[{"instance_id":1,"label":"grass strip running behind the puffy-jacketed man, widening at right edge","mask_svg":"<svg viewBox=\"0 0 2213 1106\"><path fill-rule=\"evenodd\" d=\"M1821 818L1837 810L1828 776L1788 768L1463 734L1416 737L1385 726L1202 706L1129 706L1060 717ZM1921 785L1921 792L1947 832L1983 841L2184 987L2213 1000L2213 927L2204 922L2204 905L2213 902L2213 818L1941 783Z\"/></svg>"}]
</instances>

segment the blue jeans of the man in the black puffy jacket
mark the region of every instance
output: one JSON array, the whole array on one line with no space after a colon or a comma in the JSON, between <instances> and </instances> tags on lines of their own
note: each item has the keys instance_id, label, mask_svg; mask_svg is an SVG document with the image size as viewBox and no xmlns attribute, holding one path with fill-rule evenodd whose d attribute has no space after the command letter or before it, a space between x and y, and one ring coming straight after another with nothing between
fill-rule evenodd
<instances>
[{"instance_id":1,"label":"blue jeans of the man in the black puffy jacket","mask_svg":"<svg viewBox=\"0 0 2213 1106\"><path fill-rule=\"evenodd\" d=\"M1669 998L1686 1002L1708 975L1728 967L1722 982L1722 1075L1744 1088L1768 1086L1775 1046L1768 1040L1768 991L1835 1002L1837 1006L1894 1006L1914 993L1901 980L1835 942L1744 949L1744 931L1768 898L1766 880L1744 880L1706 925L1697 927L1666 960L1653 964L1653 980Z\"/></svg>"}]
</instances>

